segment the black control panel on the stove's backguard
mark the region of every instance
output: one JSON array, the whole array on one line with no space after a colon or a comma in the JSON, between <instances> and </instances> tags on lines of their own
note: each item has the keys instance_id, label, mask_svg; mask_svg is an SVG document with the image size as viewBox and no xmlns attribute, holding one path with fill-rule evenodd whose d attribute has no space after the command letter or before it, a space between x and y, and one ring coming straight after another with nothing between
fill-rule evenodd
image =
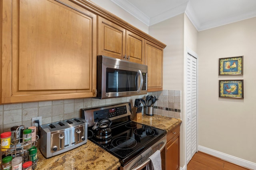
<instances>
[{"instance_id":1,"label":"black control panel on the stove's backguard","mask_svg":"<svg viewBox=\"0 0 256 170\"><path fill-rule=\"evenodd\" d=\"M112 117L125 115L125 114L127 114L126 105L119 106L119 107L112 107L109 109L103 109L103 110L93 112L95 122L98 122L101 119L110 119Z\"/></svg>"}]
</instances>

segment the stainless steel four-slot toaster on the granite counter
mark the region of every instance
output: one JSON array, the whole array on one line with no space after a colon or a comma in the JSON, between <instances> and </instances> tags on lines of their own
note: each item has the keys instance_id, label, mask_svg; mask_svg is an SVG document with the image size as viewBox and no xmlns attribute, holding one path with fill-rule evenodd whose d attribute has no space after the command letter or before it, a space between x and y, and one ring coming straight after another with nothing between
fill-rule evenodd
<instances>
[{"instance_id":1,"label":"stainless steel four-slot toaster on the granite counter","mask_svg":"<svg viewBox=\"0 0 256 170\"><path fill-rule=\"evenodd\" d=\"M87 142L87 122L82 118L41 125L40 146L46 158L74 149Z\"/></svg>"}]
</instances>

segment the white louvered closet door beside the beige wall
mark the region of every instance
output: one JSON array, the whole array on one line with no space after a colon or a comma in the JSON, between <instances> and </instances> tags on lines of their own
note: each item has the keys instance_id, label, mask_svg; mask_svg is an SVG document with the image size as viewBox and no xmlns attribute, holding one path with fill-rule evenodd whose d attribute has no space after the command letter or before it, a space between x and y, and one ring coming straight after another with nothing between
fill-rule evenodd
<instances>
[{"instance_id":1,"label":"white louvered closet door beside the beige wall","mask_svg":"<svg viewBox=\"0 0 256 170\"><path fill-rule=\"evenodd\" d=\"M186 160L187 164L197 151L197 59L186 57Z\"/></svg>"}]
</instances>

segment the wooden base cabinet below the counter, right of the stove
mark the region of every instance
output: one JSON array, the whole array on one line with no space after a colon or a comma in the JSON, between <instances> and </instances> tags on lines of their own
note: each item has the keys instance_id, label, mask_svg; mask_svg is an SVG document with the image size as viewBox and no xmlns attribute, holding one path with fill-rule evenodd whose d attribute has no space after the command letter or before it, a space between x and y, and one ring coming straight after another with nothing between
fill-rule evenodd
<instances>
[{"instance_id":1,"label":"wooden base cabinet below the counter, right of the stove","mask_svg":"<svg viewBox=\"0 0 256 170\"><path fill-rule=\"evenodd\" d=\"M180 125L167 133L165 151L161 152L162 169L180 169Z\"/></svg>"}]
</instances>

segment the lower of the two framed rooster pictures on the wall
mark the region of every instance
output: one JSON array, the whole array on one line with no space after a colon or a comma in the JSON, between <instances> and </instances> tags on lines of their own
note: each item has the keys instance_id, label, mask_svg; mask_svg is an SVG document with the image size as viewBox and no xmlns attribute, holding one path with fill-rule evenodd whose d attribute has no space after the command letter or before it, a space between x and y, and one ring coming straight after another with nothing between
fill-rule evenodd
<instances>
[{"instance_id":1,"label":"lower of the two framed rooster pictures on the wall","mask_svg":"<svg viewBox=\"0 0 256 170\"><path fill-rule=\"evenodd\" d=\"M244 80L219 80L219 97L244 99Z\"/></svg>"}]
</instances>

